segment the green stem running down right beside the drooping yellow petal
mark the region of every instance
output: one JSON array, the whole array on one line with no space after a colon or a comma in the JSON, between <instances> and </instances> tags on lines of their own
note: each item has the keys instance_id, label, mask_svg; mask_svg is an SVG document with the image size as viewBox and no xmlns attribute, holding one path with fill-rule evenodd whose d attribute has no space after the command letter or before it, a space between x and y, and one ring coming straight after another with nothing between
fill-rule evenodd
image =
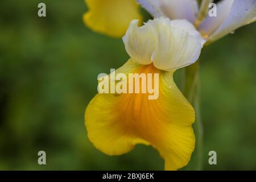
<instances>
[{"instance_id":1,"label":"green stem running down right beside the drooping yellow petal","mask_svg":"<svg viewBox=\"0 0 256 182\"><path fill-rule=\"evenodd\" d=\"M195 146L195 170L201 170L203 167L203 125L200 116L200 84L199 84L199 60L195 64L185 68L185 83L183 85L184 96L193 105L196 113L196 120L193 125L196 135Z\"/></svg>"}]
</instances>

